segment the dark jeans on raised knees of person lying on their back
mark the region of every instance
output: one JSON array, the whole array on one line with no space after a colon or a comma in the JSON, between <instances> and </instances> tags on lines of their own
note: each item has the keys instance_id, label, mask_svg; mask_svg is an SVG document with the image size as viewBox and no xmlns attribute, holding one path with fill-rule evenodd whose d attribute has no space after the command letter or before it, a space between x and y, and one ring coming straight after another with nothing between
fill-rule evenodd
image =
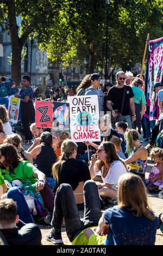
<instances>
[{"instance_id":1,"label":"dark jeans on raised knees of person lying on their back","mask_svg":"<svg viewBox=\"0 0 163 256\"><path fill-rule=\"evenodd\" d=\"M54 228L61 229L62 219L65 218L66 233L72 242L74 238L85 228L98 225L102 216L98 189L95 181L87 180L83 188L84 217L80 220L78 208L72 187L69 184L61 184L57 188L54 201L54 211L51 224Z\"/></svg>"}]
</instances>

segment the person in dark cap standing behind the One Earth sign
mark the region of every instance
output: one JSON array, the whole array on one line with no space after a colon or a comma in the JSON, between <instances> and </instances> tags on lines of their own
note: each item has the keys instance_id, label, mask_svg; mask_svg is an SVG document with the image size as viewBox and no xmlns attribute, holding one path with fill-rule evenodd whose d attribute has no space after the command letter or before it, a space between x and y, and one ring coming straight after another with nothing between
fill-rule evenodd
<instances>
[{"instance_id":1,"label":"person in dark cap standing behind the One Earth sign","mask_svg":"<svg viewBox=\"0 0 163 256\"><path fill-rule=\"evenodd\" d=\"M91 75L91 86L85 90L85 95L97 95L99 112L103 111L103 92L100 88L101 77L95 73Z\"/></svg>"}]
</instances>

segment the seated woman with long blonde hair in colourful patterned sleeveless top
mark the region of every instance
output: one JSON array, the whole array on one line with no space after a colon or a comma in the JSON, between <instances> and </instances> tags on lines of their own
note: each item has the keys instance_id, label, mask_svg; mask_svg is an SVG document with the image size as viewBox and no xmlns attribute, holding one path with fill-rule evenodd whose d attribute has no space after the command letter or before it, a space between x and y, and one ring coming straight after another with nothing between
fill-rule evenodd
<instances>
[{"instance_id":1,"label":"seated woman with long blonde hair in colourful patterned sleeveless top","mask_svg":"<svg viewBox=\"0 0 163 256\"><path fill-rule=\"evenodd\" d=\"M141 176L145 181L148 151L140 143L139 133L134 129L125 132L128 158L124 162L129 166L129 172Z\"/></svg>"}]
</instances>

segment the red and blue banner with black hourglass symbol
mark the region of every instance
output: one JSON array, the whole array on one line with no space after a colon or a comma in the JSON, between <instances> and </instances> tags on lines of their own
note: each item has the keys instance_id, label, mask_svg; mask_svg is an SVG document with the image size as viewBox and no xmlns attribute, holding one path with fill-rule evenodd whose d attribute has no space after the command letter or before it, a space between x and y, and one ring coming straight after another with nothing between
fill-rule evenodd
<instances>
[{"instance_id":1,"label":"red and blue banner with black hourglass symbol","mask_svg":"<svg viewBox=\"0 0 163 256\"><path fill-rule=\"evenodd\" d=\"M69 129L69 104L57 101L35 101L36 127Z\"/></svg>"}]
</instances>

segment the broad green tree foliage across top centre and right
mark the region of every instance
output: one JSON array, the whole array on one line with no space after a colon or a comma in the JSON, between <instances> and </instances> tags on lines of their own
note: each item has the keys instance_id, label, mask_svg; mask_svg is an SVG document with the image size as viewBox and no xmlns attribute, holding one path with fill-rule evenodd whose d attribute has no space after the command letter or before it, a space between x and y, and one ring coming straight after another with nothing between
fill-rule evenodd
<instances>
[{"instance_id":1,"label":"broad green tree foliage across top centre and right","mask_svg":"<svg viewBox=\"0 0 163 256\"><path fill-rule=\"evenodd\" d=\"M147 33L162 36L161 1L111 0L108 19L108 76L110 68L141 64ZM88 72L105 66L106 5L104 0L65 0L59 23L40 47L64 66L88 61ZM40 41L43 41L40 38ZM113 69L114 70L114 69Z\"/></svg>"}]
</instances>

